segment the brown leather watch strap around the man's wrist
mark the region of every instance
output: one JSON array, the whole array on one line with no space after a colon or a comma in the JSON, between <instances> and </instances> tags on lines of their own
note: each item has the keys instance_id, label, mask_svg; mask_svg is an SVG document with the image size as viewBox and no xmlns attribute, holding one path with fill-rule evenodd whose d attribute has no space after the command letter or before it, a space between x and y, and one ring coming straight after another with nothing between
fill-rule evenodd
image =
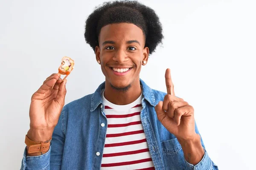
<instances>
[{"instance_id":1,"label":"brown leather watch strap around the man's wrist","mask_svg":"<svg viewBox=\"0 0 256 170\"><path fill-rule=\"evenodd\" d=\"M49 150L51 140L45 142L35 142L28 138L26 135L25 144L27 145L27 153L45 152Z\"/></svg>"}]
</instances>

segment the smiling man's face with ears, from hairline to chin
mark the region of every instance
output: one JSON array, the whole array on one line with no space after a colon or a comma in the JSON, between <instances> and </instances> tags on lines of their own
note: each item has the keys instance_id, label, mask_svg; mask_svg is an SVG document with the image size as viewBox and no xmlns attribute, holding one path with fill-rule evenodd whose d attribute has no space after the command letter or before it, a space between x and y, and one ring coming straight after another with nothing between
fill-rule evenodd
<instances>
[{"instance_id":1,"label":"smiling man's face with ears, from hairline to chin","mask_svg":"<svg viewBox=\"0 0 256 170\"><path fill-rule=\"evenodd\" d=\"M100 61L106 83L125 89L139 81L143 61L148 61L143 31L131 23L115 23L102 27L96 60Z\"/></svg>"}]
</instances>

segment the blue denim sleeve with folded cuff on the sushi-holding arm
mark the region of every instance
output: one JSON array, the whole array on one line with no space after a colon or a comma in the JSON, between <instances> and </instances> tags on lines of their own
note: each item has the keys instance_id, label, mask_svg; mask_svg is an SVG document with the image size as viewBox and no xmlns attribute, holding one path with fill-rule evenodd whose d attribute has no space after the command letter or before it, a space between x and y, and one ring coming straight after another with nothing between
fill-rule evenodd
<instances>
[{"instance_id":1,"label":"blue denim sleeve with folded cuff on the sushi-holding arm","mask_svg":"<svg viewBox=\"0 0 256 170\"><path fill-rule=\"evenodd\" d=\"M65 108L65 107L64 107ZM50 148L47 153L40 156L27 156L26 148L23 154L20 170L60 170L65 141L64 108L55 126Z\"/></svg>"}]
</instances>

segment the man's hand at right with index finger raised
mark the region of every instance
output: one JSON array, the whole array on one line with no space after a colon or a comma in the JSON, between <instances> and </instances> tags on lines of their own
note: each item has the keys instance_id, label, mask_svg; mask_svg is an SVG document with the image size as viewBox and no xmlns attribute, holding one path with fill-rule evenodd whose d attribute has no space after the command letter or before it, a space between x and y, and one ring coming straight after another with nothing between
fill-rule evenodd
<instances>
[{"instance_id":1,"label":"man's hand at right with index finger raised","mask_svg":"<svg viewBox=\"0 0 256 170\"><path fill-rule=\"evenodd\" d=\"M175 96L169 68L166 70L165 79L167 94L155 107L157 118L179 141L193 139L196 136L194 108Z\"/></svg>"}]
</instances>

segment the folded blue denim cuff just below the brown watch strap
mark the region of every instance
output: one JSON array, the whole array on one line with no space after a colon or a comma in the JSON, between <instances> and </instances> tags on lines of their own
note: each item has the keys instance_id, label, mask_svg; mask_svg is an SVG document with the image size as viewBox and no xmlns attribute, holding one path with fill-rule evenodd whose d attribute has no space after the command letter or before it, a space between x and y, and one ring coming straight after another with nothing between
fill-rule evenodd
<instances>
[{"instance_id":1,"label":"folded blue denim cuff just below the brown watch strap","mask_svg":"<svg viewBox=\"0 0 256 170\"><path fill-rule=\"evenodd\" d=\"M49 169L50 167L50 152L51 147L49 148L47 153L44 153L40 156L27 156L26 155L26 147L23 154L22 164L20 170L41 170L41 169Z\"/></svg>"}]
</instances>

